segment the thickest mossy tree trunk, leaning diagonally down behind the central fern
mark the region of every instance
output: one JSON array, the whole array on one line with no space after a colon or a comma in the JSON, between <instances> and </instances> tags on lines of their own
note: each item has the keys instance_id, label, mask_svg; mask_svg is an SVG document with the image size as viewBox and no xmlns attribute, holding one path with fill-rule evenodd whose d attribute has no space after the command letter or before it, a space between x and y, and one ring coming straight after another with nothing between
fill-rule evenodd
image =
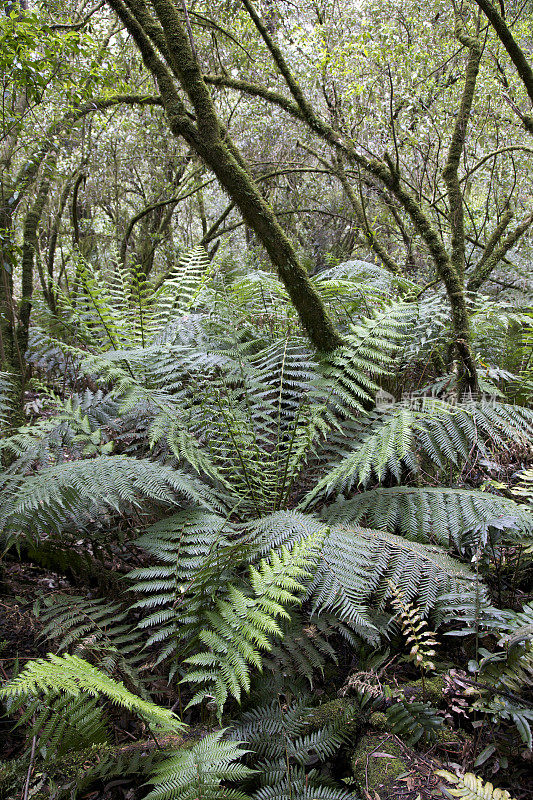
<instances>
[{"instance_id":1,"label":"thickest mossy tree trunk, leaning diagonally down behind the central fern","mask_svg":"<svg viewBox=\"0 0 533 800\"><path fill-rule=\"evenodd\" d=\"M342 340L296 250L263 199L250 170L224 129L203 79L194 44L170 0L107 0L134 38L146 67L156 78L169 127L216 175L255 232L283 281L302 325L316 348L329 352ZM194 109L191 115L180 92Z\"/></svg>"}]
</instances>

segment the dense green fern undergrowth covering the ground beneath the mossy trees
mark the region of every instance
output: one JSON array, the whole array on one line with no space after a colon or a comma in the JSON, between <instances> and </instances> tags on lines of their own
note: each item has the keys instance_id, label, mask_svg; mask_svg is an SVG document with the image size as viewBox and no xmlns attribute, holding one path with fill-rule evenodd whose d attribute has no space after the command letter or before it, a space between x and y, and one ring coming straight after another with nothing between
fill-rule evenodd
<instances>
[{"instance_id":1,"label":"dense green fern undergrowth covering the ground beneath the mossy trees","mask_svg":"<svg viewBox=\"0 0 533 800\"><path fill-rule=\"evenodd\" d=\"M78 275L1 445L3 594L52 577L43 657L0 654L0 796L528 796L531 318L472 299L458 397L443 298L363 262L314 279L328 357L200 249Z\"/></svg>"}]
</instances>

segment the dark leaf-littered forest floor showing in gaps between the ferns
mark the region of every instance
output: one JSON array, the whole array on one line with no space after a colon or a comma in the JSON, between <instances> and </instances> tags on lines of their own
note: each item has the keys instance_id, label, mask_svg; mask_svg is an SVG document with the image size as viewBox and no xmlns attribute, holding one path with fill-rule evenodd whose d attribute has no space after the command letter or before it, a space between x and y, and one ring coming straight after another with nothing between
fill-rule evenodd
<instances>
[{"instance_id":1,"label":"dark leaf-littered forest floor showing in gaps between the ferns","mask_svg":"<svg viewBox=\"0 0 533 800\"><path fill-rule=\"evenodd\" d=\"M468 474L462 476L465 486L480 487L487 481L500 481L510 485L513 475L524 468L524 462L531 457L523 452L511 454L507 460L497 463L471 465ZM145 522L145 521L144 521ZM13 551L8 554L5 569L0 582L0 677L9 680L29 659L40 658L53 650L53 642L42 636L42 625L39 620L39 610L47 599L53 595L72 594L87 598L94 598L102 594L105 584L105 595L110 600L118 597L123 592L123 582L120 577L132 568L146 565L146 555L128 542L131 531L120 530L120 524L114 527L117 543L106 548L105 558L98 562L95 574L87 575L76 573L70 569L62 574L46 566L34 563L31 557L24 553L18 558ZM123 543L119 543L123 542ZM76 544L73 554L80 557L84 555L87 543L80 540ZM72 555L72 554L71 554ZM82 558L80 558L80 561ZM96 559L93 559L96 563ZM58 568L59 569L59 568ZM495 576L500 581L500 575ZM493 591L498 597L500 607L508 606L520 608L523 603L531 600L531 585L527 581L533 577L531 570L526 582L521 587L512 585L512 595L509 587L505 588L503 595L498 583L498 590ZM100 591L98 591L98 589ZM468 659L472 656L468 652L468 643L462 639L450 640L446 648L446 660L458 669L465 669ZM147 658L150 658L148 654ZM349 684L353 678L353 657L349 653L347 658L340 659L340 665L329 672L328 680L317 684L313 688L316 697L321 703L335 703L342 695L343 685ZM355 665L356 667L356 665ZM384 679L385 680L385 679ZM401 659L391 658L386 668L386 682L393 687L401 687L405 696L412 691L415 699L421 699L416 692L419 691L420 675L412 665L402 662ZM152 675L151 691L165 707L172 706L174 696L163 675ZM339 691L340 690L340 691ZM349 695L349 691L348 691ZM387 731L385 726L380 727L372 717L384 717L383 714L372 715L370 725L362 728L358 739L354 741L351 752L345 752L343 761L338 768L342 774L336 774L336 766L332 767L332 777L344 780L347 788L350 787L350 775L355 776L360 787L358 794L363 800L432 800L442 798L442 780L436 776L436 771L450 768L449 765L458 766L463 771L483 774L485 780L492 780L495 785L505 787L516 800L533 800L533 754L524 749L517 749L509 758L508 765L500 765L491 759L484 766L476 766L476 756L490 746L492 734L490 725L479 728L464 724L460 714L456 714L453 703L443 702L441 688L431 698L435 707L440 707L441 713L447 717L445 734L432 746L418 745L416 748L408 747L397 736ZM185 722L190 722L187 718ZM139 731L132 720L121 718L117 720L114 729L115 745L133 746L138 738ZM467 730L466 730L467 729ZM195 728L195 730L197 730ZM205 729L207 730L207 729ZM491 738L492 737L492 738ZM24 737L19 729L13 729L11 720L0 717L0 753L4 760L16 759L24 748ZM493 775L491 775L493 770ZM352 781L353 783L353 781ZM1 787L0 787L1 790ZM0 791L0 796L3 797ZM135 781L130 779L112 779L99 786L91 785L82 790L79 800L136 800L138 788ZM446 795L444 795L446 796ZM15 800L9 797L8 800ZM17 799L18 800L18 799Z\"/></svg>"}]
</instances>

